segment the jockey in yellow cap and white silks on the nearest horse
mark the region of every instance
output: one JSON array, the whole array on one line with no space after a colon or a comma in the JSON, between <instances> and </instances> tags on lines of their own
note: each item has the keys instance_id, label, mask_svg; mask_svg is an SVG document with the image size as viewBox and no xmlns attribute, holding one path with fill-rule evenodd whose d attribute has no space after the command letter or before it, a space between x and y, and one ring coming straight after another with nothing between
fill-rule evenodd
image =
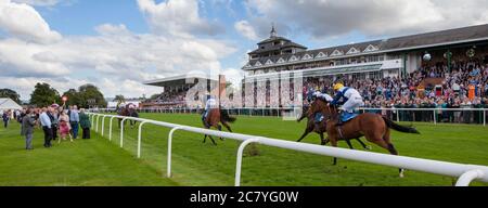
<instances>
[{"instance_id":1,"label":"jockey in yellow cap and white silks on the nearest horse","mask_svg":"<svg viewBox=\"0 0 488 208\"><path fill-rule=\"evenodd\" d=\"M334 91L337 93L331 102L331 105L343 105L343 113L337 122L337 126L341 126L343 125L343 120L348 120L355 116L355 109L364 105L364 102L356 89L344 87L343 83L334 84Z\"/></svg>"}]
</instances>

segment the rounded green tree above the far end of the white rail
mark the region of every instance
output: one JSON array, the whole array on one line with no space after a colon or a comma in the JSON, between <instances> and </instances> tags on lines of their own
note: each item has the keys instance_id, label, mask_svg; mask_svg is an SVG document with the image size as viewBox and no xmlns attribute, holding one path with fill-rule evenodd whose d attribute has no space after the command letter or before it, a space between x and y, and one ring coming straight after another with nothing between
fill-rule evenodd
<instances>
[{"instance_id":1,"label":"rounded green tree above the far end of the white rail","mask_svg":"<svg viewBox=\"0 0 488 208\"><path fill-rule=\"evenodd\" d=\"M78 89L78 96L80 98L79 106L88 108L97 105L99 107L106 107L106 101L99 88L91 83L80 86Z\"/></svg>"}]
</instances>

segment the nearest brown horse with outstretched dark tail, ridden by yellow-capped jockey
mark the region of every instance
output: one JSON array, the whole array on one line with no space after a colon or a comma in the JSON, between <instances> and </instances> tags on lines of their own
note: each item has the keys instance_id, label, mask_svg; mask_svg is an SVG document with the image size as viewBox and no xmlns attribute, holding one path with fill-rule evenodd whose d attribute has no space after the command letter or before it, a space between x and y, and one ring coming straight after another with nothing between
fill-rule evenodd
<instances>
[{"instance_id":1,"label":"nearest brown horse with outstretched dark tail, ridden by yellow-capped jockey","mask_svg":"<svg viewBox=\"0 0 488 208\"><path fill-rule=\"evenodd\" d=\"M391 144L390 129L404 133L420 132L412 127L404 127L395 123L390 119L377 114L361 114L341 127L336 123L339 119L337 107L329 105L325 101L316 100L310 106L311 114L322 113L328 120L326 130L332 146L337 146L337 141L365 136L365 139L385 150L391 155L398 155L397 150ZM334 165L337 158L334 157ZM403 177L403 169L399 169L400 177Z\"/></svg>"}]
</instances>

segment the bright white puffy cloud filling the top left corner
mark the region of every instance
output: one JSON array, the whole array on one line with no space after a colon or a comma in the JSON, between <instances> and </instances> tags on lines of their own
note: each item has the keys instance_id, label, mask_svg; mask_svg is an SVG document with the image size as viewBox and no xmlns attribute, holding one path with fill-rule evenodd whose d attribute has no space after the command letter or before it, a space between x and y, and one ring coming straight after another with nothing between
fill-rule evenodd
<instances>
[{"instance_id":1,"label":"bright white puffy cloud filling the top left corner","mask_svg":"<svg viewBox=\"0 0 488 208\"><path fill-rule=\"evenodd\" d=\"M0 29L38 43L51 43L62 39L33 6L10 0L0 0Z\"/></svg>"}]
</instances>

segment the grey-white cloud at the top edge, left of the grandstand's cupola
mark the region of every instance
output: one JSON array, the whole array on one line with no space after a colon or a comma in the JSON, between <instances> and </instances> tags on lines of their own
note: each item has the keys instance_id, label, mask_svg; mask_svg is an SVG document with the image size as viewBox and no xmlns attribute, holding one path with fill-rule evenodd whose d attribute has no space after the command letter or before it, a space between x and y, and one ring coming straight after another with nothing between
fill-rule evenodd
<instances>
[{"instance_id":1,"label":"grey-white cloud at the top edge, left of the grandstand's cupola","mask_svg":"<svg viewBox=\"0 0 488 208\"><path fill-rule=\"evenodd\" d=\"M145 15L153 31L159 35L191 37L193 35L218 35L223 27L201 17L197 0L138 0L139 9Z\"/></svg>"}]
</instances>

